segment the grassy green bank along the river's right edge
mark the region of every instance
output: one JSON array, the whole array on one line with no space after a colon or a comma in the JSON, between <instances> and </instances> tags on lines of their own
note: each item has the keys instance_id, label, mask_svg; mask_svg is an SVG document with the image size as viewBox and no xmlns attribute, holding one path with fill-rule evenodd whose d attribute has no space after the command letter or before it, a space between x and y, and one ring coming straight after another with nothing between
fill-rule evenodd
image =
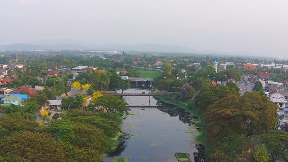
<instances>
[{"instance_id":1,"label":"grassy green bank along the river's right edge","mask_svg":"<svg viewBox=\"0 0 288 162\"><path fill-rule=\"evenodd\" d=\"M194 106L194 104L185 104L181 101L178 101L177 99L171 99L169 97L155 97L157 100L163 101L168 104L172 104L175 106L178 106L187 112L189 112L193 116L197 116L197 119L193 119L193 122L195 123L193 126L196 129L201 129L200 133L196 137L197 142L199 144L203 144L206 148L209 147L208 141L206 140L206 132L207 132L207 127L206 124L203 122L202 118L202 112L198 111Z\"/></svg>"}]
</instances>

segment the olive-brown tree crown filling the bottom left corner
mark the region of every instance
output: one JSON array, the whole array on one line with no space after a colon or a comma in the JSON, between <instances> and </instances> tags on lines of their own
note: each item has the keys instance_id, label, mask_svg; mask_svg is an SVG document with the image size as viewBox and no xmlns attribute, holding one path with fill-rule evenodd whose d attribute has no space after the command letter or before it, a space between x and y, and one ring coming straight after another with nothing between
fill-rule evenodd
<instances>
[{"instance_id":1,"label":"olive-brown tree crown filling the bottom left corner","mask_svg":"<svg viewBox=\"0 0 288 162\"><path fill-rule=\"evenodd\" d=\"M10 154L32 162L65 161L62 147L44 133L19 132L0 139L0 156L6 157Z\"/></svg>"}]
</instances>

